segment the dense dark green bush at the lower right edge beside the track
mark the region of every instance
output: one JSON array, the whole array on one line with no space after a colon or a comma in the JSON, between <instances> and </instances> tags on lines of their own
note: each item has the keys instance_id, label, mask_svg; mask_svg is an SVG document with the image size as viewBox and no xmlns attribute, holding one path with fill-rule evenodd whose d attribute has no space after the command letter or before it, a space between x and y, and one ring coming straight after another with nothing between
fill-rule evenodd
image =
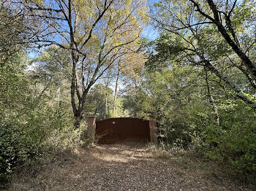
<instances>
[{"instance_id":1,"label":"dense dark green bush at the lower right edge beside the track","mask_svg":"<svg viewBox=\"0 0 256 191\"><path fill-rule=\"evenodd\" d=\"M256 171L255 112L241 103L226 107L221 125L202 132L206 156L229 163L239 173Z\"/></svg>"}]
</instances>

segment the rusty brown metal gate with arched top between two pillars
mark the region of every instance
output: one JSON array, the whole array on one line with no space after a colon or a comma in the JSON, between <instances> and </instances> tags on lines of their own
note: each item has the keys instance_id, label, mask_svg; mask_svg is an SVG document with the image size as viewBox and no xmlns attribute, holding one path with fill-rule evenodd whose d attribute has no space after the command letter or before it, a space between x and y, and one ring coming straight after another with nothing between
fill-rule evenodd
<instances>
[{"instance_id":1,"label":"rusty brown metal gate with arched top between two pillars","mask_svg":"<svg viewBox=\"0 0 256 191\"><path fill-rule=\"evenodd\" d=\"M132 117L109 118L96 122L96 135L100 144L119 141L150 141L148 120Z\"/></svg>"}]
</instances>

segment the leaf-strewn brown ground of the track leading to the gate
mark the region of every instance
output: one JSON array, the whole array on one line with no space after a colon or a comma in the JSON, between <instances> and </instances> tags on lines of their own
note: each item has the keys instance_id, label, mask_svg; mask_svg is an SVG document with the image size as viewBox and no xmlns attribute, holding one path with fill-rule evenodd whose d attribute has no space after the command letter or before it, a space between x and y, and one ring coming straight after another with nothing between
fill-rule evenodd
<instances>
[{"instance_id":1,"label":"leaf-strewn brown ground of the track leading to the gate","mask_svg":"<svg viewBox=\"0 0 256 191\"><path fill-rule=\"evenodd\" d=\"M218 168L191 152L96 144L23 169L8 190L248 190L218 174Z\"/></svg>"}]
</instances>

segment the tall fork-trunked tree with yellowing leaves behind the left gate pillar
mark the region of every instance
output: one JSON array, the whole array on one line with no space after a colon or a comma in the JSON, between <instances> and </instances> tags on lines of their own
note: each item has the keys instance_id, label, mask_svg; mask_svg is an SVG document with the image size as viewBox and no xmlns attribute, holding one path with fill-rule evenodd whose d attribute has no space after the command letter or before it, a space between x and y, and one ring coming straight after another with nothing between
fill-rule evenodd
<instances>
[{"instance_id":1,"label":"tall fork-trunked tree with yellowing leaves behind the left gate pillar","mask_svg":"<svg viewBox=\"0 0 256 191\"><path fill-rule=\"evenodd\" d=\"M118 58L135 51L148 20L146 1L54 0L25 5L45 26L34 42L70 50L71 104L78 128L91 86Z\"/></svg>"}]
</instances>

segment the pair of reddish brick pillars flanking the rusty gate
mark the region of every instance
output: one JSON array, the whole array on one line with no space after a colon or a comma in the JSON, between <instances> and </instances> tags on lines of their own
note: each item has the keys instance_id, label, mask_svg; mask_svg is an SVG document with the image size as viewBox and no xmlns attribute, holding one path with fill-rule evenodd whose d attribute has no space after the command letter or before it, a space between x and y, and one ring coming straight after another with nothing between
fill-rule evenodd
<instances>
[{"instance_id":1,"label":"pair of reddish brick pillars flanking the rusty gate","mask_svg":"<svg viewBox=\"0 0 256 191\"><path fill-rule=\"evenodd\" d=\"M119 118L119 117L117 117ZM149 115L149 130L150 130L150 141L153 144L157 144L157 122L154 115ZM96 133L96 116L90 116L87 120L87 134L92 142L95 141Z\"/></svg>"}]
</instances>

